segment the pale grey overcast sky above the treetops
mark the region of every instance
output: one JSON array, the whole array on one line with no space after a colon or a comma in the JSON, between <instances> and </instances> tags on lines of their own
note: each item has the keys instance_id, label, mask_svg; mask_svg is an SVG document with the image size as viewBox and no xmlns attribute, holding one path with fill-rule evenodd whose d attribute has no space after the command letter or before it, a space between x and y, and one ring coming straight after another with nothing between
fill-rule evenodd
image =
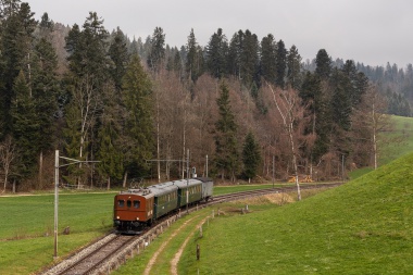
<instances>
[{"instance_id":1,"label":"pale grey overcast sky above the treetops","mask_svg":"<svg viewBox=\"0 0 413 275\"><path fill-rule=\"evenodd\" d=\"M221 27L228 40L239 29L260 41L273 34L287 49L296 45L303 61L325 49L333 59L365 65L413 63L412 0L26 1L37 20L47 12L53 22L82 26L93 11L108 30L118 26L130 38L151 36L159 26L170 46L186 45L191 28L198 43L206 46Z\"/></svg>"}]
</instances>

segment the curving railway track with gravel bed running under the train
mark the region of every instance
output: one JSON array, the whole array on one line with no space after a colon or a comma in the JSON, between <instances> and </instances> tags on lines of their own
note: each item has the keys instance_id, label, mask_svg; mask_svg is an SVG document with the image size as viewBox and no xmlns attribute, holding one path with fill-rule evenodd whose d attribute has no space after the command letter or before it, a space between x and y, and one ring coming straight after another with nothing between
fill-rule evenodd
<instances>
[{"instance_id":1,"label":"curving railway track with gravel bed running under the train","mask_svg":"<svg viewBox=\"0 0 413 275\"><path fill-rule=\"evenodd\" d=\"M305 185L301 186L301 189L333 188L339 185L341 185L341 183ZM295 191L296 188L296 186L291 186L221 195L215 196L213 200L202 203L200 207L267 193ZM188 212L193 212L198 208L199 205L191 207ZM51 270L42 273L42 275L109 274L110 271L117 268L117 266L122 264L122 262L126 261L126 259L132 254L139 253L140 250L143 250L149 242L151 242L158 237L158 235L162 234L166 227L171 226L171 224L179 218L180 213L185 212L186 211L180 211L178 214L164 218L162 222L145 230L138 236L110 234L96 243L92 243L79 251L75 255L62 261Z\"/></svg>"}]
</instances>

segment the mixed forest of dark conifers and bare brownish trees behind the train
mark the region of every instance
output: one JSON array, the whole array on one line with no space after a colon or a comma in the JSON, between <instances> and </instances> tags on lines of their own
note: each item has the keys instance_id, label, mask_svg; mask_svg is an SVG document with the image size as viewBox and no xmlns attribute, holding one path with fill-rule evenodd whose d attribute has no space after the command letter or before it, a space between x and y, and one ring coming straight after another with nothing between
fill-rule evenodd
<instances>
[{"instance_id":1,"label":"mixed forest of dark conifers and bare brownish trees behind the train","mask_svg":"<svg viewBox=\"0 0 413 275\"><path fill-rule=\"evenodd\" d=\"M188 163L230 183L342 179L377 167L386 114L411 116L412 64L303 61L249 29L205 46L191 29L178 49L162 27L129 38L95 12L64 26L20 0L0 9L3 192L52 187L55 150L84 162L61 184L87 188L183 178Z\"/></svg>"}]
</instances>

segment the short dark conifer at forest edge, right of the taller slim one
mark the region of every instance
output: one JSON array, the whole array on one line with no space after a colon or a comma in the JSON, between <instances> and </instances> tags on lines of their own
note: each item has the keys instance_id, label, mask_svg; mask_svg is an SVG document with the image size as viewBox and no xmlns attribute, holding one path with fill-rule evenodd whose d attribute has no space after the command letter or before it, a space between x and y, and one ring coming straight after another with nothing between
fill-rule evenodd
<instances>
[{"instance_id":1,"label":"short dark conifer at forest edge, right of the taller slim one","mask_svg":"<svg viewBox=\"0 0 413 275\"><path fill-rule=\"evenodd\" d=\"M242 149L243 174L251 182L261 162L260 147L251 132L248 133Z\"/></svg>"}]
</instances>

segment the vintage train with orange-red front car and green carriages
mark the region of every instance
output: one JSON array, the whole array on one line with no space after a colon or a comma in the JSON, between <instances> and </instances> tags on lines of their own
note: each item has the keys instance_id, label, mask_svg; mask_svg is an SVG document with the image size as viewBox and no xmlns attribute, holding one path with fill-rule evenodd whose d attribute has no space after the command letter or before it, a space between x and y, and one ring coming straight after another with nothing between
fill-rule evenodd
<instances>
[{"instance_id":1,"label":"vintage train with orange-red front car and green carriages","mask_svg":"<svg viewBox=\"0 0 413 275\"><path fill-rule=\"evenodd\" d=\"M213 185L209 177L196 177L121 191L114 197L113 226L117 233L139 234L187 204L209 201Z\"/></svg>"}]
</instances>

